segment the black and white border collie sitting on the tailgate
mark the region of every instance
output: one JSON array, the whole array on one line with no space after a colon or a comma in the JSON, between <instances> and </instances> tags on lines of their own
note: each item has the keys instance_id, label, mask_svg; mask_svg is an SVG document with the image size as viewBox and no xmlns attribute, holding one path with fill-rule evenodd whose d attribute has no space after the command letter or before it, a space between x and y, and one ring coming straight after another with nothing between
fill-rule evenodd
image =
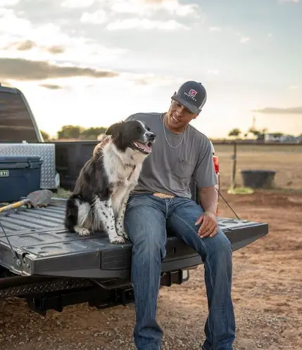
<instances>
[{"instance_id":1,"label":"black and white border collie sitting on the tailgate","mask_svg":"<svg viewBox=\"0 0 302 350\"><path fill-rule=\"evenodd\" d=\"M96 146L80 171L66 203L65 228L80 236L102 231L118 244L128 239L124 228L127 200L156 136L137 120L115 123L106 135L108 140Z\"/></svg>"}]
</instances>

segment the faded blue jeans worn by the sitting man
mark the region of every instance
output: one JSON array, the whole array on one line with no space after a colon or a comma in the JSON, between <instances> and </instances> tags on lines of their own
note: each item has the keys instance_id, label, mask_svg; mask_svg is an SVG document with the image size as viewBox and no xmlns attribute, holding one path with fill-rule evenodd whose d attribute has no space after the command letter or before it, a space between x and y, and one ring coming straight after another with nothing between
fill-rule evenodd
<instances>
[{"instance_id":1,"label":"faded blue jeans worn by the sitting man","mask_svg":"<svg viewBox=\"0 0 302 350\"><path fill-rule=\"evenodd\" d=\"M132 195L128 200L125 231L133 243L134 343L138 350L161 349L163 330L156 321L156 309L167 232L196 249L204 262L209 313L202 349L233 349L232 245L220 228L213 238L197 235L195 222L202 213L201 206L187 198Z\"/></svg>"}]
</instances>

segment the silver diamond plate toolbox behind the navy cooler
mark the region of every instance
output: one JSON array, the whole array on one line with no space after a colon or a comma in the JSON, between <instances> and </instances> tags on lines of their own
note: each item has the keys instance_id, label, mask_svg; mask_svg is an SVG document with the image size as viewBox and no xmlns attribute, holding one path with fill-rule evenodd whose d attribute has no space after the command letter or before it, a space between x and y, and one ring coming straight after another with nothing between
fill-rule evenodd
<instances>
[{"instance_id":1,"label":"silver diamond plate toolbox behind the navy cooler","mask_svg":"<svg viewBox=\"0 0 302 350\"><path fill-rule=\"evenodd\" d=\"M41 188L51 190L59 187L54 143L0 143L0 155L39 155L43 160Z\"/></svg>"}]
</instances>

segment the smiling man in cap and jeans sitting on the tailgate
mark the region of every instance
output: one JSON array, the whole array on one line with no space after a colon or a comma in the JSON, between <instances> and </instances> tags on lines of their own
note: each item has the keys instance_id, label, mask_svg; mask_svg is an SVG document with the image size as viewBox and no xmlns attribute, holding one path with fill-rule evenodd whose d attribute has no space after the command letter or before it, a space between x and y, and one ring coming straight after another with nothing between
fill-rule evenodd
<instances>
[{"instance_id":1,"label":"smiling man in cap and jeans sitting on the tailgate","mask_svg":"<svg viewBox=\"0 0 302 350\"><path fill-rule=\"evenodd\" d=\"M232 245L215 219L218 193L210 141L189 124L198 117L206 97L202 84L185 82L172 96L168 112L127 118L146 122L156 134L125 212L125 230L133 242L138 350L161 349L163 330L156 321L156 309L169 231L196 249L204 261L209 313L202 349L233 349ZM191 200L191 176L199 187L200 205Z\"/></svg>"}]
</instances>

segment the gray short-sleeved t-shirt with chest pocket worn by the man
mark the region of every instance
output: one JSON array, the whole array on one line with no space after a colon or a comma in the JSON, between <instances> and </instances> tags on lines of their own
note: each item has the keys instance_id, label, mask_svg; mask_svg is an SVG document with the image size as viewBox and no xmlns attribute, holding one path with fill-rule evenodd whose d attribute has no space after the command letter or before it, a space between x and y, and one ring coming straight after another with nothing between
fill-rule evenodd
<instances>
[{"instance_id":1,"label":"gray short-sleeved t-shirt with chest pocket worn by the man","mask_svg":"<svg viewBox=\"0 0 302 350\"><path fill-rule=\"evenodd\" d=\"M146 122L156 134L152 152L144 160L138 185L131 194L160 192L191 198L191 176L198 188L215 186L217 176L213 165L210 141L190 124L185 134L174 134L163 124L163 113L137 113L126 120ZM165 127L165 134L164 128ZM177 148L182 137L184 139Z\"/></svg>"}]
</instances>

